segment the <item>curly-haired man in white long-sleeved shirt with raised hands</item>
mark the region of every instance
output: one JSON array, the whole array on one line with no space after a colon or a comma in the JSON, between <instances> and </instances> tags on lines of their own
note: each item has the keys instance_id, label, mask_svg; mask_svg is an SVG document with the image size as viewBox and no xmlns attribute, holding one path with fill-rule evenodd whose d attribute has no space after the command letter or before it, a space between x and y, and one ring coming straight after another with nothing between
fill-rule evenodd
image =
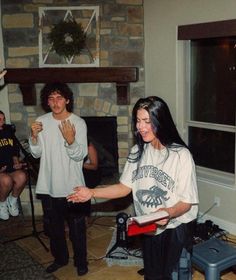
<instances>
[{"instance_id":1,"label":"curly-haired man in white long-sleeved shirt with raised hands","mask_svg":"<svg viewBox=\"0 0 236 280\"><path fill-rule=\"evenodd\" d=\"M52 273L69 261L65 221L74 251L78 275L88 272L86 224L87 205L68 203L73 186L84 184L83 161L87 155L85 121L72 113L73 92L62 83L46 84L41 105L48 113L31 125L31 153L40 158L36 193L42 201L44 228L50 238L54 262L46 269Z\"/></svg>"}]
</instances>

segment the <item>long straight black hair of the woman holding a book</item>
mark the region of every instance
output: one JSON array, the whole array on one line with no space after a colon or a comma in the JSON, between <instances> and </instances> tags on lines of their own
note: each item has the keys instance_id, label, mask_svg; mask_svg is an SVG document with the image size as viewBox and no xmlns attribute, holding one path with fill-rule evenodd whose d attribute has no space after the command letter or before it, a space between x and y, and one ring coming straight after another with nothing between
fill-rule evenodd
<instances>
[{"instance_id":1,"label":"long straight black hair of the woman holding a book","mask_svg":"<svg viewBox=\"0 0 236 280\"><path fill-rule=\"evenodd\" d=\"M145 144L136 127L137 112L140 109L144 109L148 112L152 124L153 133L159 139L163 146L165 146L167 149L177 148L181 146L188 149L188 146L182 140L177 131L166 102L157 96L140 98L134 105L132 111L132 128L136 144L138 145L138 153L136 155L137 157L135 158L135 161L138 161L141 158Z\"/></svg>"}]
</instances>

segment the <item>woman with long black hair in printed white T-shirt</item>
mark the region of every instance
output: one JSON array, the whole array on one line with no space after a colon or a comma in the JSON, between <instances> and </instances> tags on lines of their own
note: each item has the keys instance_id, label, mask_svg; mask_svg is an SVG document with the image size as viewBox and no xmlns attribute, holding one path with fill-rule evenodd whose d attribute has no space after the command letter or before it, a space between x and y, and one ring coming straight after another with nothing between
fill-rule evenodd
<instances>
[{"instance_id":1,"label":"woman with long black hair in printed white T-shirt","mask_svg":"<svg viewBox=\"0 0 236 280\"><path fill-rule=\"evenodd\" d=\"M136 145L120 182L105 188L76 187L68 201L133 194L136 215L165 210L152 235L143 235L145 280L171 280L183 248L191 251L198 212L195 164L179 136L167 104L157 96L141 98L133 108Z\"/></svg>"}]
</instances>

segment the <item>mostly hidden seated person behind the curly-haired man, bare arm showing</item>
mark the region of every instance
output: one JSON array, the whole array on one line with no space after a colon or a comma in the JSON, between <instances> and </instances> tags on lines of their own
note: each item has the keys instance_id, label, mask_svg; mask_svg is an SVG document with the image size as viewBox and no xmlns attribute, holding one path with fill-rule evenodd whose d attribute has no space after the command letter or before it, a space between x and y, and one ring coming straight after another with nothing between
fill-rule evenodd
<instances>
[{"instance_id":1,"label":"mostly hidden seated person behind the curly-haired man, bare arm showing","mask_svg":"<svg viewBox=\"0 0 236 280\"><path fill-rule=\"evenodd\" d=\"M98 167L98 153L95 145L88 137L88 155L83 165L85 184L89 188L95 188L101 181L101 172Z\"/></svg>"}]
</instances>

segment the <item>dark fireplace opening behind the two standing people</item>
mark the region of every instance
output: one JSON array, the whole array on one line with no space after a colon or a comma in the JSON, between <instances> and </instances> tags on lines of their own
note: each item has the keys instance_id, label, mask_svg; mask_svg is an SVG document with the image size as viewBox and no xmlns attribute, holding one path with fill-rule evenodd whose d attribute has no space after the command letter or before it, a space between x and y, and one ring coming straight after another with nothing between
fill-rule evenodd
<instances>
[{"instance_id":1,"label":"dark fireplace opening behind the two standing people","mask_svg":"<svg viewBox=\"0 0 236 280\"><path fill-rule=\"evenodd\" d=\"M116 117L82 117L88 137L98 152L99 169L102 177L118 173L118 140Z\"/></svg>"}]
</instances>

